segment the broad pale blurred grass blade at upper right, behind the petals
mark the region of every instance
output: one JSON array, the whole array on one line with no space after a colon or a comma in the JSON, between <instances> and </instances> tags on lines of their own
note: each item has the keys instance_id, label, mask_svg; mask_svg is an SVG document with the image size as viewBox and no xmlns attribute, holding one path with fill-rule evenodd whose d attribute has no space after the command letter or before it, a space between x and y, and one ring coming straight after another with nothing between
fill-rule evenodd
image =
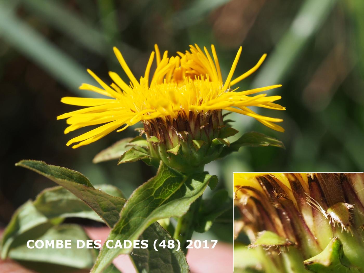
<instances>
[{"instance_id":1,"label":"broad pale blurred grass blade at upper right, behind the petals","mask_svg":"<svg viewBox=\"0 0 364 273\"><path fill-rule=\"evenodd\" d=\"M288 31L276 45L252 87L283 83L310 37L321 27L337 0L306 0ZM272 73L274 71L274 73Z\"/></svg>"}]
</instances>

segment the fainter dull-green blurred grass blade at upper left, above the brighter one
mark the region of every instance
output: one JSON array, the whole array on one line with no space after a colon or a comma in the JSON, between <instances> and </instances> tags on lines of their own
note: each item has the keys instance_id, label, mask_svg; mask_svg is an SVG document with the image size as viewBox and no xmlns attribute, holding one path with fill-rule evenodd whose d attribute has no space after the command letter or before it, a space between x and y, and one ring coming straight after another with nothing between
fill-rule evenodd
<instances>
[{"instance_id":1,"label":"fainter dull-green blurred grass blade at upper left, above the brighter one","mask_svg":"<svg viewBox=\"0 0 364 273\"><path fill-rule=\"evenodd\" d=\"M88 50L107 55L107 51L111 48L107 46L102 33L97 28L90 22L82 20L78 14L66 9L62 2L54 0L22 0L22 2L25 9L34 12L47 24L72 37Z\"/></svg>"}]
</instances>

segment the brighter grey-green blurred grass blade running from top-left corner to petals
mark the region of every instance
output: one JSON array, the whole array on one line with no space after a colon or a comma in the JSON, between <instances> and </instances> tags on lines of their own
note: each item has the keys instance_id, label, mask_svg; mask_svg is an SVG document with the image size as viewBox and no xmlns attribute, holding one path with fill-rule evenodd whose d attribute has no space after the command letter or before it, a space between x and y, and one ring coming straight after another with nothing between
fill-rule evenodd
<instances>
[{"instance_id":1,"label":"brighter grey-green blurred grass blade running from top-left corner to petals","mask_svg":"<svg viewBox=\"0 0 364 273\"><path fill-rule=\"evenodd\" d=\"M95 92L78 89L81 83L92 82L86 69L19 20L4 1L0 1L0 37L76 94L97 97Z\"/></svg>"}]
</instances>

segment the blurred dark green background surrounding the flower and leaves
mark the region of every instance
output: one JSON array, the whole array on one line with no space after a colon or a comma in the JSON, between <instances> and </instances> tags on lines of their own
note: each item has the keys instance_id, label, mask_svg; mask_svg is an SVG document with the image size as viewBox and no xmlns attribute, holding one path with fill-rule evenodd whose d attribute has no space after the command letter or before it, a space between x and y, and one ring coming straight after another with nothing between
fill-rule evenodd
<instances>
[{"instance_id":1,"label":"blurred dark green background surrounding the flower and leaves","mask_svg":"<svg viewBox=\"0 0 364 273\"><path fill-rule=\"evenodd\" d=\"M362 0L0 0L0 227L27 199L54 186L16 168L20 159L78 170L126 195L154 175L142 162L92 163L100 150L136 135L132 129L74 150L65 144L82 130L64 135L64 120L56 120L76 109L60 103L63 96L94 95L78 90L81 83L96 84L86 68L107 83L109 70L125 77L112 46L135 75L143 75L154 43L170 54L213 43L225 77L240 45L236 75L268 53L240 90L283 84L269 94L281 95L287 110L260 113L283 118L286 132L246 116L230 118L238 137L263 132L283 141L286 150L244 148L210 163L206 169L219 175L219 187L232 192L233 171L364 170ZM220 224L212 232L230 240Z\"/></svg>"}]
</instances>

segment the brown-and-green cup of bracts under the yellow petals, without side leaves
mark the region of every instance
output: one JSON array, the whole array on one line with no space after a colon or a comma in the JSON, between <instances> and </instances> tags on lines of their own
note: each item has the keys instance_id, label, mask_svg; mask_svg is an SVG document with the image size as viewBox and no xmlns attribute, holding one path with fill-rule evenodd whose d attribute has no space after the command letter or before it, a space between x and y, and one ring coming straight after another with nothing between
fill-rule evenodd
<instances>
[{"instance_id":1,"label":"brown-and-green cup of bracts under the yellow petals, without side leaves","mask_svg":"<svg viewBox=\"0 0 364 273\"><path fill-rule=\"evenodd\" d=\"M224 124L221 111L181 111L177 118L145 122L143 130L150 156L183 173L201 171L217 159L236 132Z\"/></svg>"}]
</instances>

